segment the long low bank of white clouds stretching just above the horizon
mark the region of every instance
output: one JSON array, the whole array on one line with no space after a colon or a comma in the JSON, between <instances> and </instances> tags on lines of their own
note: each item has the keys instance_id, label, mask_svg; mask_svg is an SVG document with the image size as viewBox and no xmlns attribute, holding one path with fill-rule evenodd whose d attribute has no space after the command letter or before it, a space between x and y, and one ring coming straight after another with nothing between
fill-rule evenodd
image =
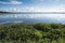
<instances>
[{"instance_id":1,"label":"long low bank of white clouds stretching just above the horizon","mask_svg":"<svg viewBox=\"0 0 65 43\"><path fill-rule=\"evenodd\" d=\"M65 12L65 5L53 5L50 8L36 8L36 6L26 6L24 9L13 8L8 9L6 11L13 12Z\"/></svg>"}]
</instances>

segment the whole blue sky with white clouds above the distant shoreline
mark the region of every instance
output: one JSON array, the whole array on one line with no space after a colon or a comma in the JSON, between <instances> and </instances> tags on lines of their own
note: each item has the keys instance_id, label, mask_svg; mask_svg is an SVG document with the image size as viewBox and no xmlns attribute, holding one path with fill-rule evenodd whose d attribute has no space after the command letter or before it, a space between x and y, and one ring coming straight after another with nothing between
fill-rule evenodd
<instances>
[{"instance_id":1,"label":"whole blue sky with white clouds above the distant shoreline","mask_svg":"<svg viewBox=\"0 0 65 43\"><path fill-rule=\"evenodd\" d=\"M65 0L0 0L0 11L65 12Z\"/></svg>"}]
</instances>

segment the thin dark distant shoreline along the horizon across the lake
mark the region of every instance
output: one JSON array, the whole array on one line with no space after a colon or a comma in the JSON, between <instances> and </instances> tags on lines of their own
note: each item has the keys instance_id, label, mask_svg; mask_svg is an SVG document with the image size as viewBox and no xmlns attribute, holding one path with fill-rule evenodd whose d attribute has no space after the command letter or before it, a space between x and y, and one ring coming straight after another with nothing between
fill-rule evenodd
<instances>
[{"instance_id":1,"label":"thin dark distant shoreline along the horizon across the lake","mask_svg":"<svg viewBox=\"0 0 65 43\"><path fill-rule=\"evenodd\" d=\"M0 12L0 14L65 14L65 12Z\"/></svg>"}]
</instances>

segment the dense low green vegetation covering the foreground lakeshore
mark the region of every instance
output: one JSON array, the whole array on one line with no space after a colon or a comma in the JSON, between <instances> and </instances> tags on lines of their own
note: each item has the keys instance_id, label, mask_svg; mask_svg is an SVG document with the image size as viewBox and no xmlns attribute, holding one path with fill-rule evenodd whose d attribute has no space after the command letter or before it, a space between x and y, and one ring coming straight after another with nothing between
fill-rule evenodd
<instances>
[{"instance_id":1,"label":"dense low green vegetation covering the foreground lakeshore","mask_svg":"<svg viewBox=\"0 0 65 43\"><path fill-rule=\"evenodd\" d=\"M65 25L15 24L0 26L0 43L65 43Z\"/></svg>"}]
</instances>

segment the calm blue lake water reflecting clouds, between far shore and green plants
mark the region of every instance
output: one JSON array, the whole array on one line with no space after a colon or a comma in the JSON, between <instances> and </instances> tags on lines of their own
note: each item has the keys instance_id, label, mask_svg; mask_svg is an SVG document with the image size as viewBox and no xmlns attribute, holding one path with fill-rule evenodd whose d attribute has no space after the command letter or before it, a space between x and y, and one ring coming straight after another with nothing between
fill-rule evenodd
<instances>
[{"instance_id":1,"label":"calm blue lake water reflecting clouds, between far shore and green plants","mask_svg":"<svg viewBox=\"0 0 65 43\"><path fill-rule=\"evenodd\" d=\"M0 24L42 22L65 24L65 14L0 14Z\"/></svg>"}]
</instances>

